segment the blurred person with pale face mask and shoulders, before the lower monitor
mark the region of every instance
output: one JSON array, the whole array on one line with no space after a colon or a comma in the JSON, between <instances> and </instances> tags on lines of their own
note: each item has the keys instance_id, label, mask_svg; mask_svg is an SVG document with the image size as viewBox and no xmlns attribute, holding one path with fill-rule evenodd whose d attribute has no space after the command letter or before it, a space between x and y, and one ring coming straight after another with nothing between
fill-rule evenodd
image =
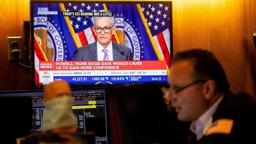
<instances>
[{"instance_id":1,"label":"blurred person with pale face mask and shoulders, before the lower monitor","mask_svg":"<svg viewBox=\"0 0 256 144\"><path fill-rule=\"evenodd\" d=\"M95 144L95 134L78 134L72 111L71 88L66 81L55 81L43 89L45 112L41 135L28 136L26 144Z\"/></svg>"}]
</instances>

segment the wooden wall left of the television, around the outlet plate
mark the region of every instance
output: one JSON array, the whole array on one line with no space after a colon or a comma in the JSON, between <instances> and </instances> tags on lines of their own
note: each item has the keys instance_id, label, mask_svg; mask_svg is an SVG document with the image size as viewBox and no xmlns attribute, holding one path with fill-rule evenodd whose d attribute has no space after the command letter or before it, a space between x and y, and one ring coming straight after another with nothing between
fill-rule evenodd
<instances>
[{"instance_id":1,"label":"wooden wall left of the television, around the outlet plate","mask_svg":"<svg viewBox=\"0 0 256 144\"><path fill-rule=\"evenodd\" d=\"M24 40L23 21L29 20L29 0L2 0L0 6L0 90L31 89L30 70L9 62L7 57L7 37L21 36Z\"/></svg>"}]
</instances>

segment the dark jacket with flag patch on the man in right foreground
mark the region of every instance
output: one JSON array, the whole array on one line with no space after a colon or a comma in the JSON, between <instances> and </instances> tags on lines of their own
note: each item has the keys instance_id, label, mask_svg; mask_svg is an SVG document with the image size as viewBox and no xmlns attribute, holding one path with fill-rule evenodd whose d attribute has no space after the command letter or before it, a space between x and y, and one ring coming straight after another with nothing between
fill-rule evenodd
<instances>
[{"instance_id":1,"label":"dark jacket with flag patch on the man in right foreground","mask_svg":"<svg viewBox=\"0 0 256 144\"><path fill-rule=\"evenodd\" d=\"M228 92L214 113L213 122L223 118L234 121L229 134L220 132L225 127L215 125L211 127L215 132L189 144L256 144L256 101L251 96Z\"/></svg>"}]
</instances>

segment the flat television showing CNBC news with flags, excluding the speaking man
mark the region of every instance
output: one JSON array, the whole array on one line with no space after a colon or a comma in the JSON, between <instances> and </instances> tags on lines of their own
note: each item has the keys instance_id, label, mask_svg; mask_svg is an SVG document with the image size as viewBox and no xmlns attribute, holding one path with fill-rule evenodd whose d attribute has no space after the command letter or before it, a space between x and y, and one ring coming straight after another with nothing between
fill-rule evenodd
<instances>
[{"instance_id":1,"label":"flat television showing CNBC news with flags, excluding the speaking man","mask_svg":"<svg viewBox=\"0 0 256 144\"><path fill-rule=\"evenodd\" d=\"M133 61L74 61L77 48L96 41L92 18L102 9L115 16L112 41L131 48ZM167 82L173 55L170 0L30 0L30 26L34 89L58 80L71 87Z\"/></svg>"}]
</instances>

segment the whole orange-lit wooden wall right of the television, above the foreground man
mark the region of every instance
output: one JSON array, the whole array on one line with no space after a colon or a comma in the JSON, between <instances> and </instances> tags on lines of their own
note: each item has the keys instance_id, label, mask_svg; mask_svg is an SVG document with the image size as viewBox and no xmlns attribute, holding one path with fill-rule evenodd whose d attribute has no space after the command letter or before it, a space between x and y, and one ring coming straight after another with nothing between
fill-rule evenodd
<instances>
[{"instance_id":1,"label":"whole orange-lit wooden wall right of the television, above the foreground man","mask_svg":"<svg viewBox=\"0 0 256 144\"><path fill-rule=\"evenodd\" d=\"M212 51L232 91L256 95L255 0L173 0L173 53Z\"/></svg>"}]
</instances>

